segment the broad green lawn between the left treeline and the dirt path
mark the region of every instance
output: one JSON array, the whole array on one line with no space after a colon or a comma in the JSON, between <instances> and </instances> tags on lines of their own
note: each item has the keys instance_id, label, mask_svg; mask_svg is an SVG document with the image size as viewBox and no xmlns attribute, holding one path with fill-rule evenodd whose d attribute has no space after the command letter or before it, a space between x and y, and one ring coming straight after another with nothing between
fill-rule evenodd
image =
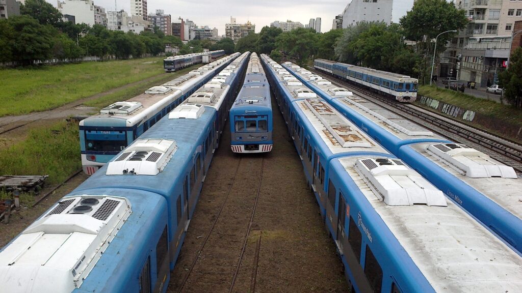
<instances>
[{"instance_id":1,"label":"broad green lawn between the left treeline and the dirt path","mask_svg":"<svg viewBox=\"0 0 522 293\"><path fill-rule=\"evenodd\" d=\"M163 72L160 57L0 69L0 116L45 111Z\"/></svg>"}]
</instances>

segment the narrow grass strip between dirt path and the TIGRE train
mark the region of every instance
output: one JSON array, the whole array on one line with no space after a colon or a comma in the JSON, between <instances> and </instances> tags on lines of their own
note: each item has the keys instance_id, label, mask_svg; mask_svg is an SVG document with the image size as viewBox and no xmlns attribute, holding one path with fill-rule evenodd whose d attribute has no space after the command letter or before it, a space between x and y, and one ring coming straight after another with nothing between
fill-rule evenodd
<instances>
[{"instance_id":1,"label":"narrow grass strip between dirt path and the TIGRE train","mask_svg":"<svg viewBox=\"0 0 522 293\"><path fill-rule=\"evenodd\" d=\"M131 87L128 87L128 88L125 88L122 90L118 90L113 93L99 97L96 100L87 101L86 103L84 103L84 105L101 109L112 103L128 100L133 96L143 93L146 89L149 89L153 86L159 86L162 83L165 83L169 80L173 80L177 77L180 77L180 76L186 74L188 71L198 68L199 66L200 65L193 65L191 67L187 67L180 71L176 71L173 74L169 74L167 77L162 75L157 78L153 78L152 80L150 80L148 82L140 82L138 84L135 84L134 86L131 86Z\"/></svg>"}]
</instances>

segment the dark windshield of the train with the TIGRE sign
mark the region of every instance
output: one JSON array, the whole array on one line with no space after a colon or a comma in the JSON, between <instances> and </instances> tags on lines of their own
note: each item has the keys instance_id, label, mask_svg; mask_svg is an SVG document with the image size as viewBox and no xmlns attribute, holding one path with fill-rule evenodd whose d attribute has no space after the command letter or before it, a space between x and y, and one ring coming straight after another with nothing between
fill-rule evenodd
<instances>
[{"instance_id":1,"label":"dark windshield of the train with the TIGRE sign","mask_svg":"<svg viewBox=\"0 0 522 293\"><path fill-rule=\"evenodd\" d=\"M127 146L125 131L86 131L85 150L119 152Z\"/></svg>"}]
</instances>

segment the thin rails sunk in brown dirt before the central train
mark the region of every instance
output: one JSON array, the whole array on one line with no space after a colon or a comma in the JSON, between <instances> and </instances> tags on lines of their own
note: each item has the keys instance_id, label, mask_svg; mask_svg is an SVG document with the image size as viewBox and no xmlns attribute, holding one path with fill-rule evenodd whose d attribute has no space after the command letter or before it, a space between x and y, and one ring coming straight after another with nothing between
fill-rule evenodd
<instances>
[{"instance_id":1,"label":"thin rails sunk in brown dirt before the central train","mask_svg":"<svg viewBox=\"0 0 522 293\"><path fill-rule=\"evenodd\" d=\"M255 158L249 158L247 160L249 160L249 161L257 161L257 160L255 160ZM221 206L220 206L220 209L219 209L219 211L218 211L218 213L216 215L216 218L212 222L212 225L210 226L210 229L208 230L208 233L205 236L205 240L203 241L203 243L201 244L201 247L197 251L196 257L195 257L194 261L192 262L191 266L188 268L187 274L183 278L183 281L180 283L180 285L179 285L179 287L177 289L177 292L181 293L181 292L184 291L188 279L192 276L193 272L195 271L195 267L201 261L201 254L204 252L205 248L207 247L207 244L209 243L209 239L211 238L211 236L213 236L213 233L215 231L216 224L218 223L218 221L220 221L220 220L227 221L227 219L224 216L226 213L223 213L223 210L226 209L226 205L227 205L227 203L229 203L229 198L230 198L231 194L234 192L233 189L235 187L234 185L236 184L236 178L238 177L238 174L241 174L240 173L240 166L241 166L242 162L244 162L243 161L243 157L240 157L239 160L238 160L238 164L236 165L233 177L230 180L229 188L227 190L226 195L224 196L223 202L221 203ZM261 159L261 163L260 164L255 164L255 165L257 165L257 166L260 165L260 174L259 174L259 180L258 180L258 183L257 183L255 199L254 199L253 205L251 206L250 209L243 209L243 210L252 210L252 211L250 213L250 218L248 220L248 226L247 226L244 238L243 238L241 252L239 254L238 261L235 263L235 270L233 272L232 279L230 281L230 286L228 288L228 292L233 292L234 286L236 284L236 279L238 279L238 275L240 273L240 267L242 265L243 257L245 255L245 250L246 250L247 245L248 245L248 236L250 235L251 231L253 231L255 229L259 229L258 227L254 227L253 224L254 224L254 216L255 216L255 212L256 212L256 208L257 208L257 203L258 203L258 200L259 200L260 190L261 190L261 186L262 186L263 172L264 172L264 166L265 166L265 158L263 157ZM231 217L231 215L227 214L227 217ZM255 291L255 286L256 286L257 263L258 263L258 259L259 259L260 241L261 241L261 234L260 234L260 231L259 231L259 235L258 235L257 242L256 242L257 244L256 244L256 249L255 249L255 260L254 260L254 265L253 265L253 269L252 269L252 276L251 276L251 283L250 283L251 292ZM218 247L218 245L216 243L214 243L213 246L217 247L218 249L220 248L220 246Z\"/></svg>"}]
</instances>

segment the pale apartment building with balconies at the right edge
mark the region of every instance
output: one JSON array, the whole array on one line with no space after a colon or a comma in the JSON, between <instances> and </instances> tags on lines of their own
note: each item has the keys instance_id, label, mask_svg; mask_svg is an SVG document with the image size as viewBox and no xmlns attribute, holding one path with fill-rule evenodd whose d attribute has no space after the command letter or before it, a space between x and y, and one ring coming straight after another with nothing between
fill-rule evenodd
<instances>
[{"instance_id":1,"label":"pale apartment building with balconies at the right edge","mask_svg":"<svg viewBox=\"0 0 522 293\"><path fill-rule=\"evenodd\" d=\"M513 45L514 25L522 20L522 2L477 0L456 7L466 11L469 22L446 45L436 75L475 82L478 87L497 82Z\"/></svg>"}]
</instances>

